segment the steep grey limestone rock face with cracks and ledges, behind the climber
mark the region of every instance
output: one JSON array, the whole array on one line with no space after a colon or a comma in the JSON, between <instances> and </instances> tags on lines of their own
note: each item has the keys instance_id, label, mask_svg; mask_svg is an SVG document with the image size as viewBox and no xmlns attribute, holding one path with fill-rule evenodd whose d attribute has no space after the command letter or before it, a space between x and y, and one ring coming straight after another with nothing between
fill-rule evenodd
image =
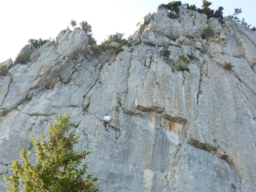
<instances>
[{"instance_id":1,"label":"steep grey limestone rock face with cracks and ledges, behind the climber","mask_svg":"<svg viewBox=\"0 0 256 192\"><path fill-rule=\"evenodd\" d=\"M22 148L34 151L30 134L70 112L75 148L91 151L88 173L99 147L100 191L255 191L256 33L185 8L167 14L145 16L117 56L90 54L80 29L61 31L1 76L0 173L10 176ZM208 25L214 36L202 39ZM190 72L177 71L171 63L187 53L197 58ZM99 146L105 113L113 120Z\"/></svg>"}]
</instances>

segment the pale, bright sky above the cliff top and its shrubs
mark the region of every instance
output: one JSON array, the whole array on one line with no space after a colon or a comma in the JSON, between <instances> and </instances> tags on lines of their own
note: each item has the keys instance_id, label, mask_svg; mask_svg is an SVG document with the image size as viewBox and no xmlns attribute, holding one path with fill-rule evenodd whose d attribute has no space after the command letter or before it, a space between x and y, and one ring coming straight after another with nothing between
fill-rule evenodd
<instances>
[{"instance_id":1,"label":"pale, bright sky above the cliff top and its shrubs","mask_svg":"<svg viewBox=\"0 0 256 192\"><path fill-rule=\"evenodd\" d=\"M2 0L0 2L0 62L14 61L29 39L56 38L70 20L91 25L94 38L100 44L108 35L125 33L124 38L137 30L137 23L161 3L172 0ZM182 3L201 7L202 0L183 0ZM212 0L210 9L223 6L223 16L233 15L241 8L240 19L256 26L255 0ZM72 30L73 27L70 26Z\"/></svg>"}]
</instances>

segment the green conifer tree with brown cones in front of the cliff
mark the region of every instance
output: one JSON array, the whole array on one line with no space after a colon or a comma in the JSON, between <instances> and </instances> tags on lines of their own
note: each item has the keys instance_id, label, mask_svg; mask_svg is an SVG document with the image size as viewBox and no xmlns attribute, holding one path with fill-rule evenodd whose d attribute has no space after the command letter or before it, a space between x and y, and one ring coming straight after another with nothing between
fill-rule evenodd
<instances>
[{"instance_id":1,"label":"green conifer tree with brown cones in front of the cliff","mask_svg":"<svg viewBox=\"0 0 256 192\"><path fill-rule=\"evenodd\" d=\"M68 132L72 127L69 114L55 116L56 125L49 124L49 141L41 134L41 142L31 134L31 143L37 150L37 163L31 165L30 157L24 148L19 155L24 159L21 163L13 160L9 165L13 170L8 181L8 191L18 191L19 181L24 183L24 191L98 191L93 189L97 178L87 175L87 164L78 166L89 151L74 151L74 144L78 143L79 135Z\"/></svg>"}]
</instances>

